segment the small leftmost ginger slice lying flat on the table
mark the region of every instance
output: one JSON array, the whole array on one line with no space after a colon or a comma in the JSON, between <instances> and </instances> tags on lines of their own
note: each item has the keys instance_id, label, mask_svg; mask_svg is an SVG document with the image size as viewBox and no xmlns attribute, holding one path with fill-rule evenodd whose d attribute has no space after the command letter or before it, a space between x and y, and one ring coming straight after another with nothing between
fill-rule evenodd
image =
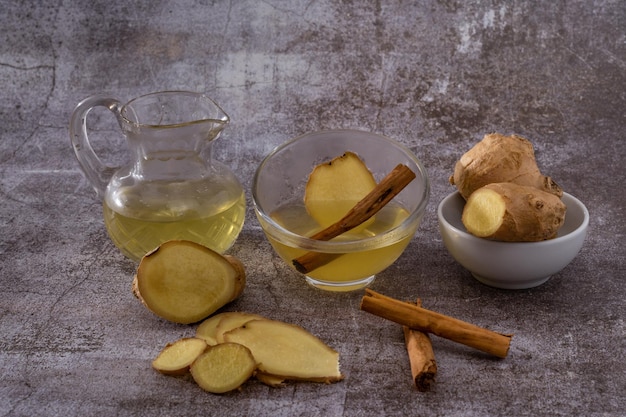
<instances>
[{"instance_id":1,"label":"small leftmost ginger slice lying flat on the table","mask_svg":"<svg viewBox=\"0 0 626 417\"><path fill-rule=\"evenodd\" d=\"M204 340L195 337L168 343L152 361L152 367L165 375L184 375L207 346Z\"/></svg>"}]
</instances>

